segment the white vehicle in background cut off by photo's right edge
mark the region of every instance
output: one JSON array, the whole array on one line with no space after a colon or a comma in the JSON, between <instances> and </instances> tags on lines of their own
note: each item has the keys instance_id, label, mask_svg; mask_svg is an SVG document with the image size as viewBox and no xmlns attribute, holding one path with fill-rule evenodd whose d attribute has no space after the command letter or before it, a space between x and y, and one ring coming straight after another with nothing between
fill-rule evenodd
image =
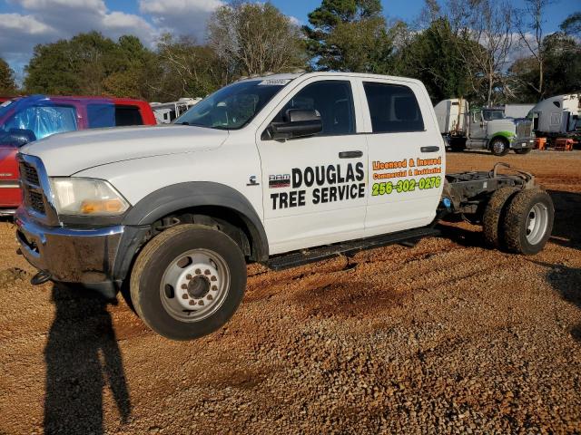
<instances>
[{"instance_id":1,"label":"white vehicle in background cut off by photo's right edge","mask_svg":"<svg viewBox=\"0 0 581 435\"><path fill-rule=\"evenodd\" d=\"M556 95L538 102L528 113L538 137L566 137L581 133L581 93Z\"/></svg>"}]
</instances>

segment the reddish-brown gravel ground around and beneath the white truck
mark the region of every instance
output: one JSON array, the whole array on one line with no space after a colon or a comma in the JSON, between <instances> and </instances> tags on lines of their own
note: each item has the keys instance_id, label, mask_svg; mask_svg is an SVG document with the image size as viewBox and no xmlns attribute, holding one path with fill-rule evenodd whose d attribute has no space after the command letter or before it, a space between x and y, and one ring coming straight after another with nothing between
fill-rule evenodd
<instances>
[{"instance_id":1,"label":"reddish-brown gravel ground around and beneath the white truck","mask_svg":"<svg viewBox=\"0 0 581 435\"><path fill-rule=\"evenodd\" d=\"M537 256L444 228L279 273L190 343L127 305L28 284L0 223L0 434L581 433L581 151L448 154L534 172L556 203Z\"/></svg>"}]
</instances>

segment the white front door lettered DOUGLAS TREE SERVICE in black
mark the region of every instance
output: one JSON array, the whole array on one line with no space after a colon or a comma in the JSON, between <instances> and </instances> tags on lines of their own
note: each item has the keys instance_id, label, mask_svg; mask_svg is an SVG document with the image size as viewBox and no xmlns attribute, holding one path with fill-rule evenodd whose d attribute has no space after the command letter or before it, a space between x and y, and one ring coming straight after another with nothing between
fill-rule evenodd
<instances>
[{"instance_id":1,"label":"white front door lettered DOUGLAS TREE SERVICE in black","mask_svg":"<svg viewBox=\"0 0 581 435\"><path fill-rule=\"evenodd\" d=\"M348 77L313 77L285 96L257 131L271 254L363 235L367 144L357 134L360 106L352 88ZM322 131L271 140L265 131L289 109L318 111Z\"/></svg>"}]
</instances>

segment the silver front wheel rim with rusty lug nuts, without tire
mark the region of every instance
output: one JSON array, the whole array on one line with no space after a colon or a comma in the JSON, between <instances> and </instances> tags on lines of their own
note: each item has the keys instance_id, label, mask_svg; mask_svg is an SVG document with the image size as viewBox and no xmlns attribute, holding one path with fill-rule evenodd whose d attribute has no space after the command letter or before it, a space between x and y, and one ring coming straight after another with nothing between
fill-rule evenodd
<instances>
[{"instance_id":1,"label":"silver front wheel rim with rusty lug nuts, without tire","mask_svg":"<svg viewBox=\"0 0 581 435\"><path fill-rule=\"evenodd\" d=\"M214 314L230 289L230 269L218 253L192 249L175 257L160 283L162 306L180 322L199 322Z\"/></svg>"}]
</instances>

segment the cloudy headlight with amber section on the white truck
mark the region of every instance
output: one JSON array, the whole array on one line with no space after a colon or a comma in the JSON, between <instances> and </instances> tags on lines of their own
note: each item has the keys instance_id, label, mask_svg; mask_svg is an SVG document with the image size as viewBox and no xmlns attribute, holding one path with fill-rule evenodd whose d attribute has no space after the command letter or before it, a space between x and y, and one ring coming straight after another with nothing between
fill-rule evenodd
<instances>
[{"instance_id":1,"label":"cloudy headlight with amber section on the white truck","mask_svg":"<svg viewBox=\"0 0 581 435\"><path fill-rule=\"evenodd\" d=\"M103 179L51 179L54 205L59 215L119 216L129 203Z\"/></svg>"}]
</instances>

